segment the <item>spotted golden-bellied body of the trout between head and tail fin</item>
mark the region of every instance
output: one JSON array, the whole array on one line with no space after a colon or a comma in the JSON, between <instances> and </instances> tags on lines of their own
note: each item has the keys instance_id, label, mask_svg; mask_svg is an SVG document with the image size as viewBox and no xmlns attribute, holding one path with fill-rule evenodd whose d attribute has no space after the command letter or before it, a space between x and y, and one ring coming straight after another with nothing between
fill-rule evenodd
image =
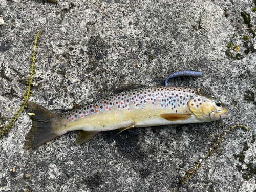
<instances>
[{"instance_id":1,"label":"spotted golden-bellied body of the trout between head and tail fin","mask_svg":"<svg viewBox=\"0 0 256 192\"><path fill-rule=\"evenodd\" d=\"M65 124L69 131L78 128L108 131L131 124L136 124L136 127L185 124L185 121L165 121L159 115L190 114L187 102L195 93L197 90L194 89L165 86L127 90L87 105L76 106L72 111L62 114L56 123Z\"/></svg>"}]
</instances>

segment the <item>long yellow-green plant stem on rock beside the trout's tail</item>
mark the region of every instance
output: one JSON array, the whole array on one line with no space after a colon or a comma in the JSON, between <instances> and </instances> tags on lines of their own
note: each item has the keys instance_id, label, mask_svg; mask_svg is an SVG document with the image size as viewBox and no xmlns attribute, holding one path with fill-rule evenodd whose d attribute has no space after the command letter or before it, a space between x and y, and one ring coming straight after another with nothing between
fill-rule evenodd
<instances>
[{"instance_id":1,"label":"long yellow-green plant stem on rock beside the trout's tail","mask_svg":"<svg viewBox=\"0 0 256 192\"><path fill-rule=\"evenodd\" d=\"M32 95L32 91L31 86L33 86L34 84L34 74L35 74L35 62L36 62L36 44L37 44L37 39L40 37L42 30L39 30L38 34L36 35L35 38L35 42L34 42L34 49L32 51L31 56L29 57L32 60L32 65L30 65L30 76L28 78L28 86L27 86L27 90L24 92L24 96L23 96L23 102L19 105L19 109L18 111L14 114L14 116L11 118L11 121L9 122L8 125L6 125L1 131L0 131L0 139L7 134L12 127L14 126L16 120L18 119L18 117L20 116L20 114L22 114L22 112L25 110L26 106L27 106L27 101L28 98Z\"/></svg>"}]
</instances>

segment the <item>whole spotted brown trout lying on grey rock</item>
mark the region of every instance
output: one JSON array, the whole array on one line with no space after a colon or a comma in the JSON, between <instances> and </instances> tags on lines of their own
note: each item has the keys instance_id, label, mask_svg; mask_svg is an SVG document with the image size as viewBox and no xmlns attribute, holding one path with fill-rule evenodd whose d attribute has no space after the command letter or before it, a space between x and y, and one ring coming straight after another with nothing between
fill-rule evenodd
<instances>
[{"instance_id":1,"label":"whole spotted brown trout lying on grey rock","mask_svg":"<svg viewBox=\"0 0 256 192\"><path fill-rule=\"evenodd\" d=\"M197 89L199 90L199 89ZM172 86L120 86L116 93L58 114L27 101L32 127L27 148L35 148L67 132L79 130L76 144L101 131L134 127L203 123L227 117L219 100L196 89Z\"/></svg>"}]
</instances>

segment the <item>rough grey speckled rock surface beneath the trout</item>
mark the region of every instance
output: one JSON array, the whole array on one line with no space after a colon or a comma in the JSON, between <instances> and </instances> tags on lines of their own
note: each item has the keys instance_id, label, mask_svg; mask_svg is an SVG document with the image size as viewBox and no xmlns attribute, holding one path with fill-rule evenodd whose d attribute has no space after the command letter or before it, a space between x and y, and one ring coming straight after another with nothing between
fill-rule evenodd
<instances>
[{"instance_id":1,"label":"rough grey speckled rock surface beneath the trout","mask_svg":"<svg viewBox=\"0 0 256 192\"><path fill-rule=\"evenodd\" d=\"M255 28L236 33L238 44L250 38L238 53L227 47L234 29L256 25L253 1L101 3L110 18L91 1L1 1L0 125L22 102L39 29L30 101L58 112L109 95L118 84L153 86L170 73L194 70L203 76L169 84L220 98L229 118L221 127L211 122L101 132L81 145L74 144L75 131L27 150L31 120L23 113L0 140L0 191L255 191ZM188 169L234 124L250 131L234 130L182 185Z\"/></svg>"}]
</instances>

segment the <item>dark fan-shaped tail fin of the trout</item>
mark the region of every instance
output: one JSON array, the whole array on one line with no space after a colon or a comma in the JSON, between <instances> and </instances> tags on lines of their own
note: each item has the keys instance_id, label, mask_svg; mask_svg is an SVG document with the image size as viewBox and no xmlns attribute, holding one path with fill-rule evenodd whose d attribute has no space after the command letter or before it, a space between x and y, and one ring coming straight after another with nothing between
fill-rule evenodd
<instances>
[{"instance_id":1,"label":"dark fan-shaped tail fin of the trout","mask_svg":"<svg viewBox=\"0 0 256 192\"><path fill-rule=\"evenodd\" d=\"M32 128L26 137L26 147L35 148L60 136L56 133L55 120L59 114L55 114L33 102L27 102L27 112L33 113ZM55 130L55 131L54 131Z\"/></svg>"}]
</instances>

